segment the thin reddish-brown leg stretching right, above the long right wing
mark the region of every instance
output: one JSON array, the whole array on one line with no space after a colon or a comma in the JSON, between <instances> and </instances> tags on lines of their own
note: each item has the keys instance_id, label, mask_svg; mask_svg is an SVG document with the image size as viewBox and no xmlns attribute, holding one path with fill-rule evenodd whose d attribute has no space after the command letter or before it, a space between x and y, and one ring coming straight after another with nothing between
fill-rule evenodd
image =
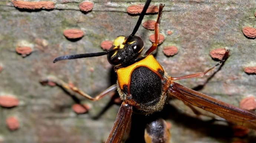
<instances>
[{"instance_id":1,"label":"thin reddish-brown leg stretching right, above the long right wing","mask_svg":"<svg viewBox=\"0 0 256 143\"><path fill-rule=\"evenodd\" d=\"M226 49L226 52L223 56L223 58L214 66L210 67L208 70L204 71L204 72L200 72L200 73L194 73L194 74L188 74L186 76L180 76L180 77L171 77L171 80L180 80L180 79L188 79L188 78L193 78L193 77L203 77L204 75L206 75L206 73L208 73L210 70L214 69L215 67L221 65L226 59L227 57L229 57L229 49Z\"/></svg>"}]
</instances>

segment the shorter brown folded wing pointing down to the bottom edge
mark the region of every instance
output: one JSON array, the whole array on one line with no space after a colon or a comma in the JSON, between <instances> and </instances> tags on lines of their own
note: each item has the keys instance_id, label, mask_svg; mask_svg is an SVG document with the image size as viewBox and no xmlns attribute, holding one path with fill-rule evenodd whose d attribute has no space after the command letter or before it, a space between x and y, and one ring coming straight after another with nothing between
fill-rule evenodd
<instances>
[{"instance_id":1,"label":"shorter brown folded wing pointing down to the bottom edge","mask_svg":"<svg viewBox=\"0 0 256 143\"><path fill-rule=\"evenodd\" d=\"M127 127L129 125L132 115L132 106L127 105L125 102L122 103L115 123L111 129L111 132L108 135L108 139L105 143L120 143Z\"/></svg>"}]
</instances>

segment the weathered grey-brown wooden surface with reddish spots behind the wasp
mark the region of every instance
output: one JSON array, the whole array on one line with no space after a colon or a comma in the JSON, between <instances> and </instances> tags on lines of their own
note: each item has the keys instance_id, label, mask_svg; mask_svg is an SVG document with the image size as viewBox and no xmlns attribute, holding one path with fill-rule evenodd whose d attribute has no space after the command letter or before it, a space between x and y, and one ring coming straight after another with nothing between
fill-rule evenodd
<instances>
[{"instance_id":1,"label":"weathered grey-brown wooden surface with reddish spots behind the wasp","mask_svg":"<svg viewBox=\"0 0 256 143\"><path fill-rule=\"evenodd\" d=\"M118 96L113 93L92 102L39 81L55 77L92 96L115 84L106 56L52 61L67 54L101 52L106 46L103 41L131 34L139 16L128 13L127 7L145 1L90 0L82 8L82 0L30 1L0 0L0 143L104 142L119 109ZM237 107L250 99L254 110L256 1L151 2L157 7L160 3L165 4L160 24L164 42L155 56L167 73L177 77L204 71L218 61L211 51L229 48L230 57L218 72L177 82ZM156 18L156 13L147 14L142 22ZM154 34L146 28L141 26L137 32L145 49ZM71 31L65 33L67 29ZM163 49L170 46L178 52L166 56ZM256 142L254 130L198 118L175 99L169 103L155 115L134 114L127 142L143 142L145 123L154 118L164 118L170 125L172 143Z\"/></svg>"}]
</instances>

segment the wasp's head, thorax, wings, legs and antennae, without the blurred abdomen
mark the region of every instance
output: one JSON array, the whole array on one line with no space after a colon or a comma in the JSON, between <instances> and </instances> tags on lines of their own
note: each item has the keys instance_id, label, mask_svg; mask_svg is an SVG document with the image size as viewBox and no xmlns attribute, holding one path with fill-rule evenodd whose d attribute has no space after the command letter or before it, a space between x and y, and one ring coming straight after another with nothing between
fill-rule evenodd
<instances>
[{"instance_id":1,"label":"wasp's head, thorax, wings, legs and antennae, without the blurred abdomen","mask_svg":"<svg viewBox=\"0 0 256 143\"><path fill-rule=\"evenodd\" d=\"M84 93L76 87L71 87L61 80L52 80L66 89L75 91L92 101L117 90L122 100L114 125L106 143L120 143L125 132L129 130L132 112L148 115L161 111L168 97L175 97L192 109L193 106L210 111L231 123L256 129L256 114L227 104L208 95L187 88L175 80L202 77L216 66L222 64L229 56L226 50L223 58L208 70L181 77L168 76L164 67L152 55L159 45L160 19L164 4L160 4L157 21L155 23L155 42L144 53L144 43L136 32L146 14L151 0L147 0L132 33L128 36L118 36L109 50L98 53L84 53L56 57L53 63L65 59L77 59L107 55L108 62L114 66L117 75L116 84L110 86L96 97ZM153 128L154 129L154 128ZM147 133L148 135L148 133Z\"/></svg>"}]
</instances>

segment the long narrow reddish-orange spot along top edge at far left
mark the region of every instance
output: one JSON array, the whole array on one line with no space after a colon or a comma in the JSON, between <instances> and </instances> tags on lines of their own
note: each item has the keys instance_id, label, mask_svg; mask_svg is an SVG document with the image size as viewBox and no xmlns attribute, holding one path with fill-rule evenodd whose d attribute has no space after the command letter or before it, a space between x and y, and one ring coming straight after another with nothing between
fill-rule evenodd
<instances>
[{"instance_id":1,"label":"long narrow reddish-orange spot along top edge at far left","mask_svg":"<svg viewBox=\"0 0 256 143\"><path fill-rule=\"evenodd\" d=\"M37 9L53 9L54 3L52 1L17 1L12 0L14 7L17 8L24 8L30 10L37 10Z\"/></svg>"}]
</instances>

